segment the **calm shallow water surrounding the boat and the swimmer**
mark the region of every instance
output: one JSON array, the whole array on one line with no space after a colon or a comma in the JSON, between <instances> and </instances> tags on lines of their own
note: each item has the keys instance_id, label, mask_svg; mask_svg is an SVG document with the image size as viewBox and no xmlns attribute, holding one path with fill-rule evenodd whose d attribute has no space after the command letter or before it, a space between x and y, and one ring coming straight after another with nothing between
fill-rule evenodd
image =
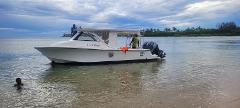
<instances>
[{"instance_id":1,"label":"calm shallow water surrounding the boat and the swimmer","mask_svg":"<svg viewBox=\"0 0 240 108\"><path fill-rule=\"evenodd\" d=\"M163 37L161 62L51 65L33 47L0 39L0 107L239 108L240 37ZM13 87L21 77L24 88Z\"/></svg>"}]
</instances>

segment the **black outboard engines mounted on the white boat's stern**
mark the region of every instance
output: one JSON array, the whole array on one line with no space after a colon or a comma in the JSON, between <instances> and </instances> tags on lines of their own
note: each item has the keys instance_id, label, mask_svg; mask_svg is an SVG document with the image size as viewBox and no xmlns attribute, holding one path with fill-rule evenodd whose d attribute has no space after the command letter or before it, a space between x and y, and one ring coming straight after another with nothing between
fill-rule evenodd
<instances>
[{"instance_id":1,"label":"black outboard engines mounted on the white boat's stern","mask_svg":"<svg viewBox=\"0 0 240 108\"><path fill-rule=\"evenodd\" d=\"M144 42L143 49L150 49L152 54L158 55L158 57L164 58L166 56L166 53L163 52L163 50L160 50L158 48L158 44L155 42Z\"/></svg>"}]
</instances>

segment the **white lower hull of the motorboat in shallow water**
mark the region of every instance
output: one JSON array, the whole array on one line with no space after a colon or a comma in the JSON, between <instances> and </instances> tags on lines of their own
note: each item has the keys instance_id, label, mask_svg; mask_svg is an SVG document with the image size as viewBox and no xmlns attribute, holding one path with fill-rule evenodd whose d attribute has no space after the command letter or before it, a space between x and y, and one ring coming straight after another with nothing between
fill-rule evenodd
<instances>
[{"instance_id":1,"label":"white lower hull of the motorboat in shallow water","mask_svg":"<svg viewBox=\"0 0 240 108\"><path fill-rule=\"evenodd\" d=\"M36 49L54 63L118 63L161 59L146 49L128 51L66 47L36 47Z\"/></svg>"}]
</instances>

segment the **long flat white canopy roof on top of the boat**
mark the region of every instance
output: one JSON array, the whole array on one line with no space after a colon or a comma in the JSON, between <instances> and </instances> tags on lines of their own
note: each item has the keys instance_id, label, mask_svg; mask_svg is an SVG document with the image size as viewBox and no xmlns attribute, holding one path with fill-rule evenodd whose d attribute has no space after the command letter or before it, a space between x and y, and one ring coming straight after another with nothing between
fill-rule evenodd
<instances>
[{"instance_id":1,"label":"long flat white canopy roof on top of the boat","mask_svg":"<svg viewBox=\"0 0 240 108\"><path fill-rule=\"evenodd\" d=\"M140 30L137 29L94 29L94 28L80 28L77 31L83 32L115 32L115 33L127 33L127 34L140 34Z\"/></svg>"}]
</instances>

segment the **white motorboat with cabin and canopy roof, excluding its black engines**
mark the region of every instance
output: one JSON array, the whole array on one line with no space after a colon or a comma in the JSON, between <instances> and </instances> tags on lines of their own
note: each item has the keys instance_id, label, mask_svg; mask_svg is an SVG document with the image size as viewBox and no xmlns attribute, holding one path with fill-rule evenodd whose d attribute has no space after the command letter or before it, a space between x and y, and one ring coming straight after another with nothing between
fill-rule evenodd
<instances>
[{"instance_id":1,"label":"white motorboat with cabin and canopy roof, excluding its black engines","mask_svg":"<svg viewBox=\"0 0 240 108\"><path fill-rule=\"evenodd\" d=\"M77 29L68 41L35 47L53 63L115 63L160 60L151 49L117 47L117 37L140 35L139 30Z\"/></svg>"}]
</instances>

